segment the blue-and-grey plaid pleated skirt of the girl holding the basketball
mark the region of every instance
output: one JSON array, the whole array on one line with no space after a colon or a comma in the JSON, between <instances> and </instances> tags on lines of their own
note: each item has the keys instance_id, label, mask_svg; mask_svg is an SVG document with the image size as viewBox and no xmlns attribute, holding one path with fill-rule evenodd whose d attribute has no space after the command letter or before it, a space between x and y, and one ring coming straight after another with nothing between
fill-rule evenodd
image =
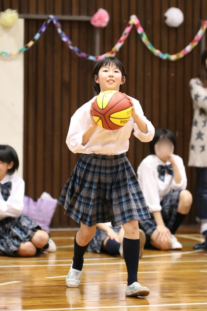
<instances>
[{"instance_id":1,"label":"blue-and-grey plaid pleated skirt of the girl holding the basketball","mask_svg":"<svg viewBox=\"0 0 207 311\"><path fill-rule=\"evenodd\" d=\"M65 184L59 204L77 223L118 227L150 218L136 174L126 154L83 154Z\"/></svg>"}]
</instances>

